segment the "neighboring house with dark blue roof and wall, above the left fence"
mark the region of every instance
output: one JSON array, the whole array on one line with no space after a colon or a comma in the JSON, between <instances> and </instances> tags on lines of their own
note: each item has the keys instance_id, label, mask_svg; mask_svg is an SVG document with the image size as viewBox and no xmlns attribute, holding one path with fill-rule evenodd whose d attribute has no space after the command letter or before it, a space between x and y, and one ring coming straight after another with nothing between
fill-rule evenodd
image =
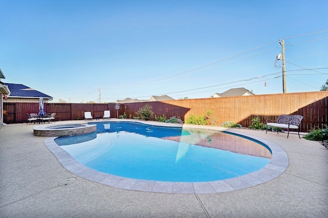
<instances>
[{"instance_id":1,"label":"neighboring house with dark blue roof and wall, above the left fence","mask_svg":"<svg viewBox=\"0 0 328 218\"><path fill-rule=\"evenodd\" d=\"M5 83L5 85L8 86L11 92L6 99L6 102L39 102L40 97L42 97L45 102L53 99L50 95L32 89L23 84Z\"/></svg>"}]
</instances>

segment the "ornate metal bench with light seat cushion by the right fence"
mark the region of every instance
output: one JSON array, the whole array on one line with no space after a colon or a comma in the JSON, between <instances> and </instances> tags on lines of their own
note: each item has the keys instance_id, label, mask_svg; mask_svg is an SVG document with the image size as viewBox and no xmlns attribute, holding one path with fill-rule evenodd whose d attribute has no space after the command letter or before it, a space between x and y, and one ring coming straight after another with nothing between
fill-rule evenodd
<instances>
[{"instance_id":1,"label":"ornate metal bench with light seat cushion by the right fence","mask_svg":"<svg viewBox=\"0 0 328 218\"><path fill-rule=\"evenodd\" d=\"M277 120L267 119L265 120L265 122L267 123L267 131L265 131L265 134L267 134L269 127L277 127L282 129L288 129L288 134L287 134L287 138L288 138L289 130L297 129L298 137L301 138L301 136L299 135L299 125L301 124L302 119L303 116L301 115L288 115L288 114L279 115Z\"/></svg>"}]
</instances>

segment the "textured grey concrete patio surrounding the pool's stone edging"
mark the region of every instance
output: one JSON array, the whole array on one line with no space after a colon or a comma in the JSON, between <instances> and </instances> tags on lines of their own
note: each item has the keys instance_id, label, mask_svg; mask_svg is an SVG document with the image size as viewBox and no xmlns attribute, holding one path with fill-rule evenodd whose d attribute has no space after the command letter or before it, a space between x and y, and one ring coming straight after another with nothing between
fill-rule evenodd
<instances>
[{"instance_id":1,"label":"textured grey concrete patio surrounding the pool's stone edging","mask_svg":"<svg viewBox=\"0 0 328 218\"><path fill-rule=\"evenodd\" d=\"M57 122L56 122L57 123ZM328 151L291 134L235 130L278 144L289 165L241 190L176 194L111 187L67 171L33 126L0 129L0 217L327 217ZM68 178L72 184L63 185Z\"/></svg>"}]
</instances>

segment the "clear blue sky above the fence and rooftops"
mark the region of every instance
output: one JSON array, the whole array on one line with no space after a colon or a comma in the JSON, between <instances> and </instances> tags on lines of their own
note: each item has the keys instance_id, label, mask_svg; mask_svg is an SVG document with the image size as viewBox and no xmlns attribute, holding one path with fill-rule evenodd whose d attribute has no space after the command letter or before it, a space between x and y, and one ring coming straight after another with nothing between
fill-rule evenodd
<instances>
[{"instance_id":1,"label":"clear blue sky above the fence and rooftops","mask_svg":"<svg viewBox=\"0 0 328 218\"><path fill-rule=\"evenodd\" d=\"M328 1L0 0L4 83L70 103L319 91Z\"/></svg>"}]
</instances>

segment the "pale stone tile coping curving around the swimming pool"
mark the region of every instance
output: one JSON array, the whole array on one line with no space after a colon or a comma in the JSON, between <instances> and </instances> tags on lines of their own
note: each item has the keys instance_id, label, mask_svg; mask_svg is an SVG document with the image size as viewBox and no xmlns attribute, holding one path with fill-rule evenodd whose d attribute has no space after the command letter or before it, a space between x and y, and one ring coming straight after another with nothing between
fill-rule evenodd
<instances>
[{"instance_id":1,"label":"pale stone tile coping curving around the swimming pool","mask_svg":"<svg viewBox=\"0 0 328 218\"><path fill-rule=\"evenodd\" d=\"M131 122L131 121L129 121ZM148 124L145 122L137 122ZM148 124L149 125L149 124ZM150 124L152 125L152 124ZM162 125L153 125L162 126ZM168 126L168 125L165 125ZM173 125L177 127L177 125ZM49 137L45 139L47 148L56 156L58 161L68 171L75 174L78 177L91 180L100 184L109 185L116 188L122 188L127 190L147 191L147 192L161 192L161 193L221 193L226 191L240 190L252 186L259 185L261 183L272 180L281 175L289 164L287 153L276 143L269 140L265 140L260 137L256 137L249 134L235 132L231 129L218 128L218 127L205 127L205 126L193 126L193 125L179 125L182 128L188 129L206 129L213 131L225 131L234 133L240 136L249 137L266 144L272 151L271 161L258 171L246 174L243 176L217 180L210 182L161 182L152 180L139 180L131 179L120 176L115 176L103 172L91 169L77 160L75 160L68 152L60 148L54 141L56 137ZM171 126L172 127L172 126Z\"/></svg>"}]
</instances>

